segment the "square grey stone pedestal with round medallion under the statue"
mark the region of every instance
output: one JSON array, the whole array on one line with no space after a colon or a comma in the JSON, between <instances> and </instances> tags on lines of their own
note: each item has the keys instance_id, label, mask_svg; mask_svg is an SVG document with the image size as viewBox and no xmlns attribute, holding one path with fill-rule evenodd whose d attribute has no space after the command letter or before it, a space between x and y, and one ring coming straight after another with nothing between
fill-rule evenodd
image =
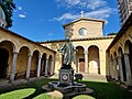
<instances>
[{"instance_id":1,"label":"square grey stone pedestal with round medallion under the statue","mask_svg":"<svg viewBox=\"0 0 132 99\"><path fill-rule=\"evenodd\" d=\"M74 69L59 69L59 86L74 85Z\"/></svg>"}]
</instances>

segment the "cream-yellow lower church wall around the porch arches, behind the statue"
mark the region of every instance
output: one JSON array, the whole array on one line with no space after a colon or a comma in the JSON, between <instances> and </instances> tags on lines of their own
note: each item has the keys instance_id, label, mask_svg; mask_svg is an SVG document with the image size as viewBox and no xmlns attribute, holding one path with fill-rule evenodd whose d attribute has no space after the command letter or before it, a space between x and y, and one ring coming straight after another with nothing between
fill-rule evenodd
<instances>
[{"instance_id":1,"label":"cream-yellow lower church wall around the porch arches, behind the statue","mask_svg":"<svg viewBox=\"0 0 132 99\"><path fill-rule=\"evenodd\" d=\"M96 45L99 47L99 59L100 59L100 74L106 75L106 50L108 48L109 44L113 38L95 38L88 41L73 41L74 46L82 46L85 51L88 51L88 47L91 45ZM52 42L52 43L43 43L42 45L47 46L52 50L57 51L65 42ZM55 73L58 73L58 69L62 66L62 54L56 53L56 62L55 62ZM76 70L75 64L73 65L74 69Z\"/></svg>"}]
</instances>

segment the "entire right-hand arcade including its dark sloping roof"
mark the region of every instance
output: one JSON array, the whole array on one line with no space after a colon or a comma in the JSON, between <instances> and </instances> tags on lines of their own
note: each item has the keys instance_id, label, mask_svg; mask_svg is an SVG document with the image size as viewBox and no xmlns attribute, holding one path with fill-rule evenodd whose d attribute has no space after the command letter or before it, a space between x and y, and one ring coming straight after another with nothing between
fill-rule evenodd
<instances>
[{"instance_id":1,"label":"entire right-hand arcade including its dark sloping roof","mask_svg":"<svg viewBox=\"0 0 132 99\"><path fill-rule=\"evenodd\" d=\"M107 50L110 78L132 87L132 14Z\"/></svg>"}]
</instances>

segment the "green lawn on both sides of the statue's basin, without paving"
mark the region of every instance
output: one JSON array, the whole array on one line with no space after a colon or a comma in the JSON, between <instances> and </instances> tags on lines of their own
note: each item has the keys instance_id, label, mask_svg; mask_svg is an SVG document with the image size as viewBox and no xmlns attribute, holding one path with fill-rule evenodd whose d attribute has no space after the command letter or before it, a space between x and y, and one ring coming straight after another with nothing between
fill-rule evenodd
<instances>
[{"instance_id":1,"label":"green lawn on both sides of the statue's basin, without paving","mask_svg":"<svg viewBox=\"0 0 132 99\"><path fill-rule=\"evenodd\" d=\"M42 89L42 86L50 81L57 81L57 79L38 79L28 84L0 89L0 99L62 99L57 96L52 98L52 96L47 95L47 92ZM94 94L90 96L76 96L73 97L73 99L132 99L131 92L112 81L81 80L79 82L86 84L88 88L94 89Z\"/></svg>"}]
</instances>

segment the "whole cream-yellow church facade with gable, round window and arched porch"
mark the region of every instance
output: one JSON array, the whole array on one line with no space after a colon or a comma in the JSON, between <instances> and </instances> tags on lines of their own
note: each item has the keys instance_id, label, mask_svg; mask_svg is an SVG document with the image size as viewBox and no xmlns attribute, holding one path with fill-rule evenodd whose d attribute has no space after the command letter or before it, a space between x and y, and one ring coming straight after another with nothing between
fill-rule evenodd
<instances>
[{"instance_id":1,"label":"whole cream-yellow church facade with gable, round window and arched porch","mask_svg":"<svg viewBox=\"0 0 132 99\"><path fill-rule=\"evenodd\" d=\"M114 36L103 36L103 20L79 18L64 24L65 40L40 42L57 52L70 38L76 52L75 73L108 75L106 51ZM55 73L62 67L62 54L56 53Z\"/></svg>"}]
</instances>

